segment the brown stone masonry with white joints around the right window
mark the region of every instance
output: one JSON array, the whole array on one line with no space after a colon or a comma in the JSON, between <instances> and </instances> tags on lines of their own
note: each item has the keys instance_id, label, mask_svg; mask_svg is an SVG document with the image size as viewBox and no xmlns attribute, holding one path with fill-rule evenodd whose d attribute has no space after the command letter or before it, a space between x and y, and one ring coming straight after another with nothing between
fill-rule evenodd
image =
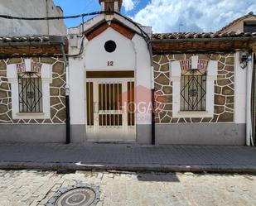
<instances>
[{"instance_id":1,"label":"brown stone masonry with white joints around the right window","mask_svg":"<svg viewBox=\"0 0 256 206\"><path fill-rule=\"evenodd\" d=\"M234 54L194 54L199 59L218 60L218 77L215 81L214 117L205 118L173 118L172 117L172 85L169 62L187 60L191 54L154 55L154 78L156 89L157 123L190 123L190 122L234 122ZM206 91L207 92L207 91Z\"/></svg>"}]
</instances>

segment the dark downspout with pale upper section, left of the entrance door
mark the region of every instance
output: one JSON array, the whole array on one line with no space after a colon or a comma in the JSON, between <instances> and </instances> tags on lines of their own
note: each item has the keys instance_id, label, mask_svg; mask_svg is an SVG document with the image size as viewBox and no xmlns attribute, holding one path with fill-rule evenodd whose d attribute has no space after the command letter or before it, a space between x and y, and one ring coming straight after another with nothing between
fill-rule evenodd
<instances>
[{"instance_id":1,"label":"dark downspout with pale upper section, left of the entrance door","mask_svg":"<svg viewBox=\"0 0 256 206\"><path fill-rule=\"evenodd\" d=\"M61 44L61 52L65 62L65 143L70 144L70 69L65 55L64 44Z\"/></svg>"}]
</instances>

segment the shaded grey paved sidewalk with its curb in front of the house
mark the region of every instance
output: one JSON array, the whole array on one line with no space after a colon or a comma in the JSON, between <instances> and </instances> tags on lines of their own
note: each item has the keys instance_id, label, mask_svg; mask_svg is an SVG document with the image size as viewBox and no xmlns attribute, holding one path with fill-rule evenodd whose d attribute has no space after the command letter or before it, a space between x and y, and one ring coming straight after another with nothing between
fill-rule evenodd
<instances>
[{"instance_id":1,"label":"shaded grey paved sidewalk with its curb in front of the house","mask_svg":"<svg viewBox=\"0 0 256 206\"><path fill-rule=\"evenodd\" d=\"M0 169L256 172L256 147L1 144Z\"/></svg>"}]
</instances>

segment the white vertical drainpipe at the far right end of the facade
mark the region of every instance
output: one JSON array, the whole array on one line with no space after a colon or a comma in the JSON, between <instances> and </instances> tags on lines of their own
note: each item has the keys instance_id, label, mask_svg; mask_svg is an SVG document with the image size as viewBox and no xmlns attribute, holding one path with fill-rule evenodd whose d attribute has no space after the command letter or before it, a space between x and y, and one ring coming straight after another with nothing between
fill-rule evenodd
<instances>
[{"instance_id":1,"label":"white vertical drainpipe at the far right end of the facade","mask_svg":"<svg viewBox=\"0 0 256 206\"><path fill-rule=\"evenodd\" d=\"M246 81L246 146L251 145L252 140L252 109L251 109L251 97L252 97L252 77L253 77L253 64L252 57L248 58L247 66L247 81Z\"/></svg>"}]
</instances>

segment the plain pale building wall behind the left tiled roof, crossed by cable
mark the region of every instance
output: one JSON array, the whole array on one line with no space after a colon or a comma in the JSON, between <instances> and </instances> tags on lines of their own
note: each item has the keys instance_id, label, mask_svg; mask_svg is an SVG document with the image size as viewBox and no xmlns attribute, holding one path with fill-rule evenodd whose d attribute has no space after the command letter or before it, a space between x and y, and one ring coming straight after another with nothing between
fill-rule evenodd
<instances>
[{"instance_id":1,"label":"plain pale building wall behind the left tiled roof, crossed by cable","mask_svg":"<svg viewBox=\"0 0 256 206\"><path fill-rule=\"evenodd\" d=\"M62 17L60 7L56 7L52 0L1 0L1 15L15 17ZM55 21L20 21L0 19L0 36L26 35L66 35L63 20Z\"/></svg>"}]
</instances>

